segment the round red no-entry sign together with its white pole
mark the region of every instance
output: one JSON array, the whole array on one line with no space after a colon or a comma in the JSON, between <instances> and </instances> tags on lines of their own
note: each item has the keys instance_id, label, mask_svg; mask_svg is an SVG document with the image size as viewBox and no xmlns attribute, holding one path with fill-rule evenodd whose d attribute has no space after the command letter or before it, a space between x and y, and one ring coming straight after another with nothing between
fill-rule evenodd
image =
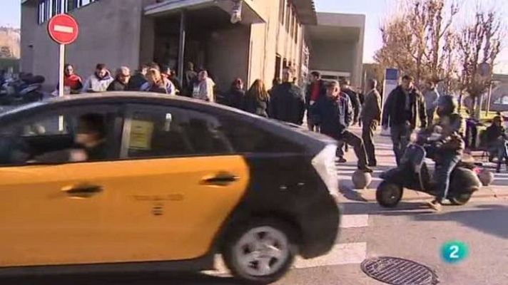
<instances>
[{"instance_id":1,"label":"round red no-entry sign together with its white pole","mask_svg":"<svg viewBox=\"0 0 508 285\"><path fill-rule=\"evenodd\" d=\"M64 96L64 65L65 65L65 46L73 43L78 38L79 26L76 20L67 15L59 14L49 20L49 36L59 43L59 97ZM59 116L59 130L64 130L64 117Z\"/></svg>"}]
</instances>

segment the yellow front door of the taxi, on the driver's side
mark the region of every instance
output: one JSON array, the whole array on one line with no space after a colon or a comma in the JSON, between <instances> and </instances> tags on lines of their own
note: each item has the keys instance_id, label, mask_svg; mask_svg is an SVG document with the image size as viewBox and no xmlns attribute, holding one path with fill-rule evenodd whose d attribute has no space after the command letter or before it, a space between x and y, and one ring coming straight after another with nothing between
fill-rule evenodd
<instances>
[{"instance_id":1,"label":"yellow front door of the taxi, on the driver's side","mask_svg":"<svg viewBox=\"0 0 508 285\"><path fill-rule=\"evenodd\" d=\"M68 163L28 158L44 148L54 152L73 138L73 122L83 113L103 115L109 152L102 160ZM64 115L64 128L59 118ZM103 202L116 174L123 118L113 106L67 107L66 112L21 115L1 129L0 266L86 264L101 261ZM118 127L116 127L116 125ZM14 143L10 143L14 142ZM64 145L62 145L64 143ZM27 160L6 160L25 157ZM32 152L32 153L29 153ZM58 157L56 155L55 157Z\"/></svg>"}]
</instances>

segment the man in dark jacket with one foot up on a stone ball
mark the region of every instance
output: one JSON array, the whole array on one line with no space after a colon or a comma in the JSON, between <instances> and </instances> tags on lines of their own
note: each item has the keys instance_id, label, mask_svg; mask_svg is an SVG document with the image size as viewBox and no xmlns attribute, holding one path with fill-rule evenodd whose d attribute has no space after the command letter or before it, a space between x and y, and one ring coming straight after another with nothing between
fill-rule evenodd
<instances>
[{"instance_id":1,"label":"man in dark jacket with one foot up on a stone ball","mask_svg":"<svg viewBox=\"0 0 508 285\"><path fill-rule=\"evenodd\" d=\"M352 121L352 107L349 97L340 92L340 84L337 81L332 81L327 87L327 95L322 96L314 104L312 117L316 125L319 125L321 133L355 148L358 169L372 172L367 167L367 155L362 138L347 130Z\"/></svg>"}]
</instances>

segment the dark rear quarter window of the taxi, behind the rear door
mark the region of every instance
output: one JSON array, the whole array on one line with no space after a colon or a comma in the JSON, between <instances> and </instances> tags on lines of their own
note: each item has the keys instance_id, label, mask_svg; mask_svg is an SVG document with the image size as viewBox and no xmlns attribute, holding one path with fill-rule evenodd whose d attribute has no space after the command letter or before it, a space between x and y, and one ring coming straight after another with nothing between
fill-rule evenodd
<instances>
[{"instance_id":1,"label":"dark rear quarter window of the taxi, behind the rear door","mask_svg":"<svg viewBox=\"0 0 508 285\"><path fill-rule=\"evenodd\" d=\"M263 130L258 125L240 118L222 117L225 136L237 153L300 153L304 149L298 142Z\"/></svg>"}]
</instances>

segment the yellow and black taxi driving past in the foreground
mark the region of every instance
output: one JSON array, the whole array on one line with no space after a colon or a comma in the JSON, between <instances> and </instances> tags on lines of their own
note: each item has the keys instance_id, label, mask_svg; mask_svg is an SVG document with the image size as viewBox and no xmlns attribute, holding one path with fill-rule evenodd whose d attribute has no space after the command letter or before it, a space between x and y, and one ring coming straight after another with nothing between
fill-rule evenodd
<instances>
[{"instance_id":1,"label":"yellow and black taxi driving past in the foreground","mask_svg":"<svg viewBox=\"0 0 508 285\"><path fill-rule=\"evenodd\" d=\"M335 141L151 93L0 115L0 274L208 270L280 279L335 243Z\"/></svg>"}]
</instances>

